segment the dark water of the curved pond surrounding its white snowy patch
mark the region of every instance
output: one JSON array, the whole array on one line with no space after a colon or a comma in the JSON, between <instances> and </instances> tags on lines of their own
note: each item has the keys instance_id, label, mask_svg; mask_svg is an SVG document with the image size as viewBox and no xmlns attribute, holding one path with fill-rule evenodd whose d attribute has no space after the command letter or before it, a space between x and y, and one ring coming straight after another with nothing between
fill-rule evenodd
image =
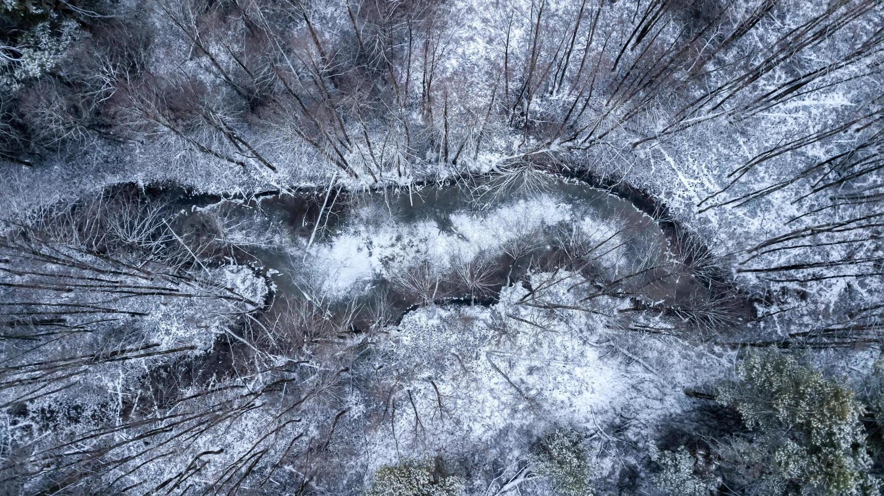
<instances>
[{"instance_id":1,"label":"dark water of the curved pond surrounding its white snowy patch","mask_svg":"<svg viewBox=\"0 0 884 496\"><path fill-rule=\"evenodd\" d=\"M399 267L386 274L373 274L370 281L362 281L343 294L322 294L314 289L317 282L323 282L317 278L336 277L317 270L316 252L354 229L363 237L371 237L373 232L399 226L407 234L409 226L433 222L440 233L461 236L453 229L455 214L482 217L495 209L541 197L568 206L569 218L560 225L545 225L531 232L533 247L520 255L493 249L483 252L484 267L491 268L481 288L437 281L428 298L395 281L397 270L408 270ZM226 244L236 246L226 258L252 264L273 283L275 291L267 309L271 319L280 318L273 315L275 312L286 312L293 304L306 302L324 306L331 316L347 314L355 328L389 324L408 309L431 301L492 303L501 287L526 281L529 271L561 268L598 279L598 286L638 273L599 290L635 297L644 304L682 304L690 298L705 297L705 288L679 266L678 254L670 252L666 234L652 217L626 199L562 177L471 177L421 188L358 193L331 188L216 202L214 206L202 199L187 210L187 219L180 224L185 238L201 245L206 238L225 239ZM250 234L227 239L229 236L220 232L224 230L220 227L223 222L218 221L221 217L240 229L248 226ZM576 223L613 226L619 233L617 243L608 242L584 256L575 255L561 244L560 234L574 229ZM379 305L385 309L382 318L377 315Z\"/></svg>"}]
</instances>

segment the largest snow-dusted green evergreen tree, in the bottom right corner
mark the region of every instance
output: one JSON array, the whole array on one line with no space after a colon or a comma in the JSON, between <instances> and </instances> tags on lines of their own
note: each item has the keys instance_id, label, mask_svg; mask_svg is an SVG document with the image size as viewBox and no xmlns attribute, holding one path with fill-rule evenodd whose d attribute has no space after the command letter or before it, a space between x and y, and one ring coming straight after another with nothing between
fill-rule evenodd
<instances>
[{"instance_id":1,"label":"largest snow-dusted green evergreen tree, in the bottom right corner","mask_svg":"<svg viewBox=\"0 0 884 496\"><path fill-rule=\"evenodd\" d=\"M751 436L735 440L726 457L754 465L766 492L879 493L853 390L775 352L746 357L738 375L718 399L740 412Z\"/></svg>"}]
</instances>

